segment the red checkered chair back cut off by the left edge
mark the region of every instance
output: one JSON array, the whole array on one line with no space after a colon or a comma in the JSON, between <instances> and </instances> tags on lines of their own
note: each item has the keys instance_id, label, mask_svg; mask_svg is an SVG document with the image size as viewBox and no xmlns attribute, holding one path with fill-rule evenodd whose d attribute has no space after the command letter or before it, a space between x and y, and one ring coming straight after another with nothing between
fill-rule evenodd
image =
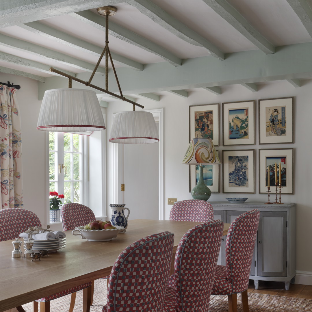
<instances>
[{"instance_id":1,"label":"red checkered chair back cut off by the left edge","mask_svg":"<svg viewBox=\"0 0 312 312\"><path fill-rule=\"evenodd\" d=\"M0 241L13 240L30 227L41 227L34 212L24 208L0 209Z\"/></svg>"}]
</instances>

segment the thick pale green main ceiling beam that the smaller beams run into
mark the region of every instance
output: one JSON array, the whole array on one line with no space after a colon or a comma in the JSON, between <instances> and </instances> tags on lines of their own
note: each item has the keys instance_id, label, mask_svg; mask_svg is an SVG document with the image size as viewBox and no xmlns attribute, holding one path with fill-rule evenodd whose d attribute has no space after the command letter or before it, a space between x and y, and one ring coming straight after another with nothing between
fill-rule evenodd
<instances>
[{"instance_id":1,"label":"thick pale green main ceiling beam that the smaller beams run into","mask_svg":"<svg viewBox=\"0 0 312 312\"><path fill-rule=\"evenodd\" d=\"M267 82L285 79L312 78L312 42L279 46L274 54L260 50L226 54L224 61L212 56L191 58L182 66L174 67L167 62L149 64L144 71L117 68L117 75L124 94L140 94L170 90L186 90L201 87ZM166 75L164 75L166 73ZM186 74L187 73L187 74ZM88 80L88 73L76 75ZM55 77L52 77L55 78ZM55 89L57 85L46 83L40 87ZM118 93L110 71L110 91ZM94 77L94 85L104 86L103 79ZM83 85L82 85L83 86Z\"/></svg>"}]
</instances>

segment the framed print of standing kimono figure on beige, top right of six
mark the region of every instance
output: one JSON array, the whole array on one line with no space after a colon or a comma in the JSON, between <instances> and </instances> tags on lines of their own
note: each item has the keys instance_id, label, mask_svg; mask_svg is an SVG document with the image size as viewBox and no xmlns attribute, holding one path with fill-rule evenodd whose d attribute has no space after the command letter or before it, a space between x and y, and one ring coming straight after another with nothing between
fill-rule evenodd
<instances>
[{"instance_id":1,"label":"framed print of standing kimono figure on beige, top right of six","mask_svg":"<svg viewBox=\"0 0 312 312\"><path fill-rule=\"evenodd\" d=\"M294 97L259 100L259 144L294 143Z\"/></svg>"}]
</instances>

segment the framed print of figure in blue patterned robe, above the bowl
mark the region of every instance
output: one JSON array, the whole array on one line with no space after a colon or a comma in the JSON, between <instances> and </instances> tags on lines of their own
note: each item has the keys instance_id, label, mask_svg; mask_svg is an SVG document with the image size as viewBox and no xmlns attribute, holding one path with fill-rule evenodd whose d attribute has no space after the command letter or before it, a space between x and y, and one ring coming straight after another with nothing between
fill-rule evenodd
<instances>
[{"instance_id":1,"label":"framed print of figure in blue patterned robe, above the bowl","mask_svg":"<svg viewBox=\"0 0 312 312\"><path fill-rule=\"evenodd\" d=\"M255 193L255 150L224 150L223 193Z\"/></svg>"}]
</instances>

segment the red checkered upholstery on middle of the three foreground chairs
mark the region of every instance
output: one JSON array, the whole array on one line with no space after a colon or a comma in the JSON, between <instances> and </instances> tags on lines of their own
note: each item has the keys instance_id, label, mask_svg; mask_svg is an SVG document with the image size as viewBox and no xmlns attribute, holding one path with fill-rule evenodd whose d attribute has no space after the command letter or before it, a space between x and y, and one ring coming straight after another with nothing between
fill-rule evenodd
<instances>
[{"instance_id":1,"label":"red checkered upholstery on middle of the three foreground chairs","mask_svg":"<svg viewBox=\"0 0 312 312\"><path fill-rule=\"evenodd\" d=\"M182 237L175 256L173 287L163 312L206 312L219 256L223 221L199 224Z\"/></svg>"}]
</instances>

